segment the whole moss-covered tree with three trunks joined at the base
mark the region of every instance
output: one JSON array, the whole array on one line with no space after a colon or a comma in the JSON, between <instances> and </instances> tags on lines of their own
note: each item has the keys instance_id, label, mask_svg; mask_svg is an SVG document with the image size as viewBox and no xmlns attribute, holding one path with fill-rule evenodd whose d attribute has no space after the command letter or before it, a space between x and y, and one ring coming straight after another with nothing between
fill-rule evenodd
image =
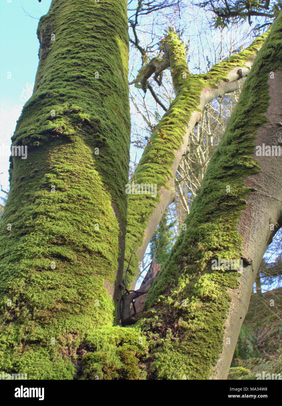
<instances>
[{"instance_id":1,"label":"whole moss-covered tree with three trunks joined at the base","mask_svg":"<svg viewBox=\"0 0 282 406\"><path fill-rule=\"evenodd\" d=\"M12 159L1 220L2 370L29 379L226 377L258 266L281 220L281 158L254 155L254 141L281 142L281 20L266 41L201 76L187 71L179 39L166 38L177 96L135 174L140 184L156 183L159 194L132 194L127 216L126 2L52 1L39 23L34 93L13 136L14 145L28 145L28 158ZM127 217L127 251L138 242L140 255L171 200L200 110L235 90L253 63L143 318L116 326ZM241 275L211 269L213 259L241 257Z\"/></svg>"}]
</instances>

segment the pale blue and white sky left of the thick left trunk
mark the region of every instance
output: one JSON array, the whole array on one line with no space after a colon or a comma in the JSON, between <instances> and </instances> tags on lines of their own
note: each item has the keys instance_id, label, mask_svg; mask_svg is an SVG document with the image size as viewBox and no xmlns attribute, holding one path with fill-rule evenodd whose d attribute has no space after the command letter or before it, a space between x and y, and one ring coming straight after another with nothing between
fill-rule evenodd
<instances>
[{"instance_id":1,"label":"pale blue and white sky left of the thick left trunk","mask_svg":"<svg viewBox=\"0 0 282 406\"><path fill-rule=\"evenodd\" d=\"M8 187L9 155L1 156L2 145L11 144L22 106L32 92L39 60L37 25L50 4L51 0L0 1L0 181L4 189Z\"/></svg>"}]
</instances>

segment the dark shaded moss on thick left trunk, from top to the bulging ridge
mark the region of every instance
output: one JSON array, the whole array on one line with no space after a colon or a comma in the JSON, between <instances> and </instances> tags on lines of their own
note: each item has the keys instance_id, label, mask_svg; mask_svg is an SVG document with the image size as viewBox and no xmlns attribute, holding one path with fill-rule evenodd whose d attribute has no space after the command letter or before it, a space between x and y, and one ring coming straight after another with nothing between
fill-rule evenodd
<instances>
[{"instance_id":1,"label":"dark shaded moss on thick left trunk, from top to the bulging ridge","mask_svg":"<svg viewBox=\"0 0 282 406\"><path fill-rule=\"evenodd\" d=\"M13 144L41 145L61 134L71 136L70 114L80 123L96 123L87 143L99 147L95 158L101 179L126 224L124 185L130 135L127 12L124 2L90 3L72 0L66 5L56 0L41 17L34 93L23 108ZM75 109L60 114L66 101ZM56 118L50 120L52 110ZM109 176L109 171L120 175Z\"/></svg>"}]
</instances>

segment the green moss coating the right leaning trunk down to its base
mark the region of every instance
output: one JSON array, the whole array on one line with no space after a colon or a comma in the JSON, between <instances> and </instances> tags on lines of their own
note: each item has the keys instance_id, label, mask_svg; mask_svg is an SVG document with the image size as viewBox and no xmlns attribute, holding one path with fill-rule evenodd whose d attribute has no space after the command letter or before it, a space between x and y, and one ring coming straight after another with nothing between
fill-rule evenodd
<instances>
[{"instance_id":1,"label":"green moss coating the right leaning trunk down to its base","mask_svg":"<svg viewBox=\"0 0 282 406\"><path fill-rule=\"evenodd\" d=\"M248 280L252 289L256 267L258 268L263 253L253 258L253 269L252 264L243 264L241 278L236 267L233 270L220 267L213 269L211 261L218 261L218 258L240 261L245 254L248 244L243 244L237 229L238 222L242 221L245 228L247 223L241 214L246 208L245 199L249 191L244 180L253 179L253 175L256 175L258 186L262 186L263 191L265 184L262 180L271 173L271 181L274 183L278 177L275 168L279 168L279 173L282 173L279 156L275 163L273 160L269 161L272 162L268 163L270 171L265 173L260 173L258 162L253 159L254 140L265 130L267 123L269 73L275 69L281 70L281 32L282 15L273 25L243 86L237 108L210 161L201 190L185 221L186 230L181 233L168 261L155 279L153 288L149 290L147 312L142 311L142 319L122 331L120 328L103 328L86 337L90 352L82 358L84 378L95 379L97 374L103 379L126 376L129 379L202 380L210 378L218 365L225 345L224 338L234 341L232 345L235 348L236 334L224 337L224 331L232 325L239 334L238 320L244 317L244 303L240 302L242 295L239 286L243 285L242 281ZM278 82L281 82L281 78L280 74ZM281 99L282 94L280 90L279 92ZM281 104L279 111L282 117ZM270 125L266 136L269 141L273 138ZM154 147L156 145L158 144L155 143ZM146 158L148 157L145 155L143 162L146 162ZM149 159L146 162L148 168L152 162L155 164L153 153L151 162ZM137 179L142 180L140 173ZM276 216L281 215L281 185L282 175L273 194L274 203L269 205ZM134 196L138 197L133 194L132 197ZM148 195L142 197L147 199ZM140 201L136 202L138 210ZM251 218L254 224L261 218L263 209L260 208L260 203L264 203L261 196L249 208L248 227ZM142 209L146 210L148 207L143 206ZM255 217L256 212L259 212L258 218ZM252 232L253 229L250 230ZM266 233L269 233L268 218L267 224L262 223L256 228L258 239L252 241L253 244L257 243L265 248ZM240 268L241 263L241 271ZM245 285L243 288L245 290ZM239 302L239 311L230 315L231 295L235 302ZM227 327L224 330L225 322ZM226 346L227 344L229 342ZM229 369L228 362L221 369L221 376L224 378Z\"/></svg>"}]
</instances>

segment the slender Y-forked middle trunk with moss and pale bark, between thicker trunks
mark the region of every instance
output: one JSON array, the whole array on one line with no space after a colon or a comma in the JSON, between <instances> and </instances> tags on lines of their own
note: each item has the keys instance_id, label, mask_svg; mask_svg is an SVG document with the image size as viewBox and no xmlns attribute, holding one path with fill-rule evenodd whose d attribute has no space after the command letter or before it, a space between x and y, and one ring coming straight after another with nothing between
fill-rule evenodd
<instances>
[{"instance_id":1,"label":"slender Y-forked middle trunk with moss and pale bark, between thicker trunks","mask_svg":"<svg viewBox=\"0 0 282 406\"><path fill-rule=\"evenodd\" d=\"M134 281L138 262L142 261L161 216L174 196L173 179L187 147L189 133L200 118L205 104L224 93L234 91L236 80L246 76L262 46L267 33L237 55L215 65L202 75L192 75L187 68L185 48L179 37L171 32L162 47L169 52L170 71L176 97L152 133L134 173L135 184L156 185L158 193L129 194L125 261L129 260L128 281ZM134 284L134 282L133 282Z\"/></svg>"}]
</instances>

